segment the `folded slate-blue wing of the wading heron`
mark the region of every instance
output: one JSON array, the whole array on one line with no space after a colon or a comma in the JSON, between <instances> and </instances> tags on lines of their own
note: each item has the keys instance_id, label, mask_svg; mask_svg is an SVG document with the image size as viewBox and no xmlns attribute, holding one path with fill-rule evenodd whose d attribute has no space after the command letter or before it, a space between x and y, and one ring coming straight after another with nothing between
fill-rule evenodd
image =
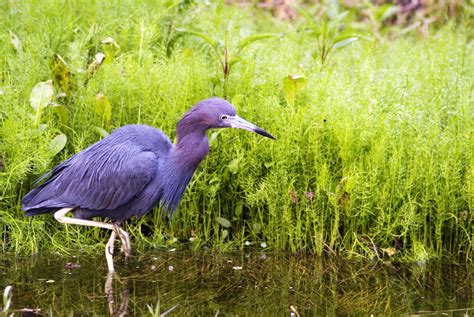
<instances>
[{"instance_id":1,"label":"folded slate-blue wing of the wading heron","mask_svg":"<svg viewBox=\"0 0 474 317\"><path fill-rule=\"evenodd\" d=\"M155 176L157 154L130 143L97 143L57 166L28 202L29 209L75 206L113 210Z\"/></svg>"}]
</instances>

